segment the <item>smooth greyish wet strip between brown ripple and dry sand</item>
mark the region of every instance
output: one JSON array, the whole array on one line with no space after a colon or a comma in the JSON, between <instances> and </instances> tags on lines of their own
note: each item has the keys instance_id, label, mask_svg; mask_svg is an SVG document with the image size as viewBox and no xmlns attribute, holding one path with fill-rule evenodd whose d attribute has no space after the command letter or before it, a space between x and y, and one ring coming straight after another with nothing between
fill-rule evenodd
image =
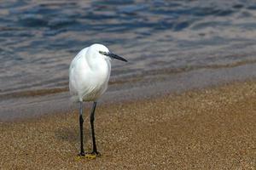
<instances>
[{"instance_id":1,"label":"smooth greyish wet strip between brown ripple and dry sand","mask_svg":"<svg viewBox=\"0 0 256 170\"><path fill-rule=\"evenodd\" d=\"M112 84L99 100L108 105L134 99L154 98L155 96L182 93L184 91L208 88L230 82L242 82L256 78L256 64L239 65L230 68L200 69L186 71L148 79L144 82L127 82L122 85ZM117 86L117 87L114 87ZM0 108L0 121L13 122L26 118L73 112L77 105L71 103L67 91L43 96L19 98L20 105L14 105L17 99L8 99ZM87 105L89 106L89 105Z\"/></svg>"}]
</instances>

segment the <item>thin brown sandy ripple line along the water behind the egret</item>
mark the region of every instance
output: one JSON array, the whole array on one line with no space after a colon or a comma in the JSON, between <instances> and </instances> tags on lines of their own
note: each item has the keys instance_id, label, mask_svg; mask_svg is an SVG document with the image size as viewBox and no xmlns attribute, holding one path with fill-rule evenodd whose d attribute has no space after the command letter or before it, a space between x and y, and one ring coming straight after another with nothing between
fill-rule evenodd
<instances>
[{"instance_id":1,"label":"thin brown sandy ripple line along the water behind the egret","mask_svg":"<svg viewBox=\"0 0 256 170\"><path fill-rule=\"evenodd\" d=\"M247 65L247 64L256 64L256 59L247 59L243 61L237 61L236 63L232 64L224 64L224 65L193 65L193 66L185 66L182 68L164 68L158 70L151 70L151 71L142 71L139 74L132 74L126 77L119 78L117 80L112 80L109 82L110 86L122 86L125 83L132 83L132 82L145 82L147 78L158 80L158 77L163 75L173 75L179 74L188 71L195 71L201 69L221 69L221 68L232 68L240 65ZM65 82L68 84L68 82ZM16 92L2 92L0 94L0 99L14 99L14 98L27 98L27 97L38 97L50 94L60 94L60 93L67 93L68 88L45 88L45 89L35 89L35 90L24 90L24 91L16 91Z\"/></svg>"}]
</instances>

